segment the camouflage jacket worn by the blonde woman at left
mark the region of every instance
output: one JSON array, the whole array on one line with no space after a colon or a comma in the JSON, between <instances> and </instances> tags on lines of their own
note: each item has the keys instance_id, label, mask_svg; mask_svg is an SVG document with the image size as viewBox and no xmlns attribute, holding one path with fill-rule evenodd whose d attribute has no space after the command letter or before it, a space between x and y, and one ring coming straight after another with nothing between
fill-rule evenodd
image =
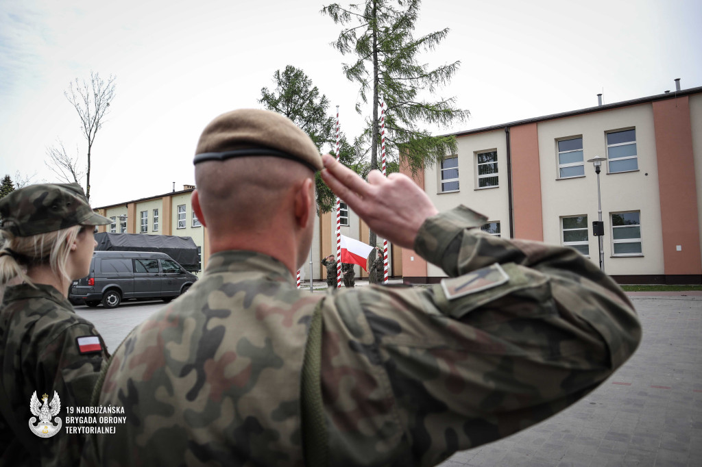
<instances>
[{"instance_id":1,"label":"camouflage jacket worn by the blonde woman at left","mask_svg":"<svg viewBox=\"0 0 702 467\"><path fill-rule=\"evenodd\" d=\"M78 316L54 287L26 284L8 287L0 309L0 384L6 393L11 419L0 413L0 465L74 466L84 437L62 428L42 439L29 431L29 400L58 393L65 425L66 407L90 403L102 362L102 351L79 352L77 339L100 336L95 327ZM17 435L15 433L18 433ZM29 446L27 446L29 444Z\"/></svg>"}]
</instances>

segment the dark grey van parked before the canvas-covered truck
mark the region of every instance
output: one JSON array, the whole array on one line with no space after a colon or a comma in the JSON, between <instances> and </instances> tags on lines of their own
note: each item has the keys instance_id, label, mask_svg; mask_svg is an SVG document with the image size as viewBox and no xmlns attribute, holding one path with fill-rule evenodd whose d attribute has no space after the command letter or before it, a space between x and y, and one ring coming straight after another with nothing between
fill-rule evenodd
<instances>
[{"instance_id":1,"label":"dark grey van parked before the canvas-covered truck","mask_svg":"<svg viewBox=\"0 0 702 467\"><path fill-rule=\"evenodd\" d=\"M102 303L105 308L117 308L128 299L170 302L196 280L166 253L96 251L90 273L72 283L68 299L88 306Z\"/></svg>"}]
</instances>

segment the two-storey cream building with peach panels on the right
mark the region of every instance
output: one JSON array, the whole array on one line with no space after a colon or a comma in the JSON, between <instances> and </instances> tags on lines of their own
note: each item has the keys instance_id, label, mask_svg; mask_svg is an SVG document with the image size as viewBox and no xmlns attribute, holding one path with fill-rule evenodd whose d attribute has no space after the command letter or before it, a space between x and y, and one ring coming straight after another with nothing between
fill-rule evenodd
<instances>
[{"instance_id":1,"label":"two-storey cream building with peach panels on the right","mask_svg":"<svg viewBox=\"0 0 702 467\"><path fill-rule=\"evenodd\" d=\"M620 283L702 283L702 88L455 133L456 154L416 174L439 210L464 204L485 231L569 245ZM406 283L444 277L411 250Z\"/></svg>"}]
</instances>

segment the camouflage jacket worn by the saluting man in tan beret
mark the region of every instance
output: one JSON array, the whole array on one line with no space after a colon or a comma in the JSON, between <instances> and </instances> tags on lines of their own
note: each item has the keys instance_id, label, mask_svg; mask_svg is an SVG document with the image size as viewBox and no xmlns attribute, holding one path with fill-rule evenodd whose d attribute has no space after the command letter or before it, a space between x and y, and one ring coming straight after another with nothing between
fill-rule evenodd
<instances>
[{"instance_id":1,"label":"camouflage jacket worn by the saluting man in tan beret","mask_svg":"<svg viewBox=\"0 0 702 467\"><path fill-rule=\"evenodd\" d=\"M416 252L451 277L431 288L311 295L271 257L213 255L115 353L100 404L127 423L98 435L100 465L301 466L304 443L329 466L433 466L571 405L633 353L637 316L576 250L466 229L484 222L423 224ZM320 319L323 435L302 440Z\"/></svg>"}]
</instances>

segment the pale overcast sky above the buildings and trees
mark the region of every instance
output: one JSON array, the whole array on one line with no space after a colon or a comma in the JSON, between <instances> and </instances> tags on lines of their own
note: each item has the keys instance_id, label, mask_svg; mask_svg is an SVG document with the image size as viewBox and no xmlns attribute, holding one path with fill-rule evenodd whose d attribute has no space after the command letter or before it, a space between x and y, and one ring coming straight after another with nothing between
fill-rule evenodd
<instances>
[{"instance_id":1,"label":"pale overcast sky above the buildings and trees","mask_svg":"<svg viewBox=\"0 0 702 467\"><path fill-rule=\"evenodd\" d=\"M215 116L260 108L275 70L303 69L340 106L355 135L355 84L329 45L340 27L323 2L0 0L0 176L58 182L44 165L60 138L86 154L63 92L91 70L117 76L117 97L93 147L94 207L194 182L199 133ZM436 133L582 109L702 86L702 4L671 1L425 0L416 36L449 36L425 55L461 61L442 97L471 119ZM370 110L366 111L370 114ZM76 149L77 148L77 149Z\"/></svg>"}]
</instances>

